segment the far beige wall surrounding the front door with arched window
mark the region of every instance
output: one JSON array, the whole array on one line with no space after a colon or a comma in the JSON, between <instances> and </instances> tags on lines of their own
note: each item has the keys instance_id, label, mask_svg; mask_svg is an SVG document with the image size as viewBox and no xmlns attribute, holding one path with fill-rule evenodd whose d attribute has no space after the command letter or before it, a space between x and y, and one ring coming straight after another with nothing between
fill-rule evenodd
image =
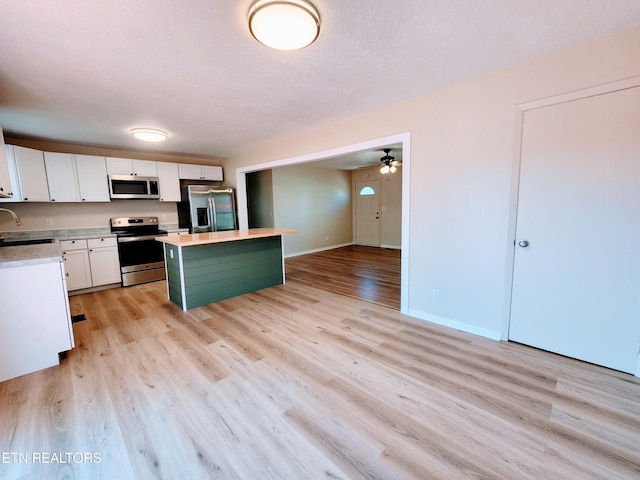
<instances>
[{"instance_id":1,"label":"far beige wall surrounding the front door with arched window","mask_svg":"<svg viewBox=\"0 0 640 480\"><path fill-rule=\"evenodd\" d=\"M362 168L354 170L351 179L354 198L358 195L356 182L380 180L380 246L400 248L402 244L402 167L398 167L395 173L386 175L380 173L379 167ZM353 221L355 222L355 217Z\"/></svg>"}]
</instances>

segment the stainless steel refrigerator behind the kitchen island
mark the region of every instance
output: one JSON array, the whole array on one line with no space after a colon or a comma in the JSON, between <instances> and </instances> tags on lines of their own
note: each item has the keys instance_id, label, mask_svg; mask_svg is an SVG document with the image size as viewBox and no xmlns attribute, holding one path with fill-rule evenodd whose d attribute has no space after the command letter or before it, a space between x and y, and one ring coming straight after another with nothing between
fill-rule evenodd
<instances>
[{"instance_id":1,"label":"stainless steel refrigerator behind the kitchen island","mask_svg":"<svg viewBox=\"0 0 640 480\"><path fill-rule=\"evenodd\" d=\"M187 185L190 225L193 233L236 230L236 200L233 188Z\"/></svg>"}]
</instances>

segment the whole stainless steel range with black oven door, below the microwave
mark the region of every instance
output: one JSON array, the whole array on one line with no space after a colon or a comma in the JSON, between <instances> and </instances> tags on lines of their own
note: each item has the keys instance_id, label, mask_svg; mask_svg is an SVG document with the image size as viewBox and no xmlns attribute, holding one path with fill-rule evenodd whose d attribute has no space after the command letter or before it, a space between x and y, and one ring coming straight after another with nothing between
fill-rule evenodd
<instances>
[{"instance_id":1,"label":"whole stainless steel range with black oven door, below the microwave","mask_svg":"<svg viewBox=\"0 0 640 480\"><path fill-rule=\"evenodd\" d=\"M164 252L155 238L167 232L158 217L112 218L111 233L118 236L123 287L164 280Z\"/></svg>"}]
</instances>

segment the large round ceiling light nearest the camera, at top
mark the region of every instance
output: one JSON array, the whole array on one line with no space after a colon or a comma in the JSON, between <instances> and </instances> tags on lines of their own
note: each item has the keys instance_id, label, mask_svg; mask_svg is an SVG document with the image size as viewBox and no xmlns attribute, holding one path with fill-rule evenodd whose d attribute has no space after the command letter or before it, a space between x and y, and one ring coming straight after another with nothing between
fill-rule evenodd
<instances>
[{"instance_id":1,"label":"large round ceiling light nearest the camera, at top","mask_svg":"<svg viewBox=\"0 0 640 480\"><path fill-rule=\"evenodd\" d=\"M249 9L249 30L267 47L297 50L318 38L320 15L306 0L257 0Z\"/></svg>"}]
</instances>

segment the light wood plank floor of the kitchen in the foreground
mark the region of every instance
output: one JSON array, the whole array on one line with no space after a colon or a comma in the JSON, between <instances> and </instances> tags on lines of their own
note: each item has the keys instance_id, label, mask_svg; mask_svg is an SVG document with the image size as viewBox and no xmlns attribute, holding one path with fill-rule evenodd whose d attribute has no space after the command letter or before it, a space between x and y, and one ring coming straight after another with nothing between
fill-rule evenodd
<instances>
[{"instance_id":1,"label":"light wood plank floor of the kitchen in the foreground","mask_svg":"<svg viewBox=\"0 0 640 480\"><path fill-rule=\"evenodd\" d=\"M640 478L629 375L291 277L187 313L164 282L71 308L62 364L0 383L0 478Z\"/></svg>"}]
</instances>

